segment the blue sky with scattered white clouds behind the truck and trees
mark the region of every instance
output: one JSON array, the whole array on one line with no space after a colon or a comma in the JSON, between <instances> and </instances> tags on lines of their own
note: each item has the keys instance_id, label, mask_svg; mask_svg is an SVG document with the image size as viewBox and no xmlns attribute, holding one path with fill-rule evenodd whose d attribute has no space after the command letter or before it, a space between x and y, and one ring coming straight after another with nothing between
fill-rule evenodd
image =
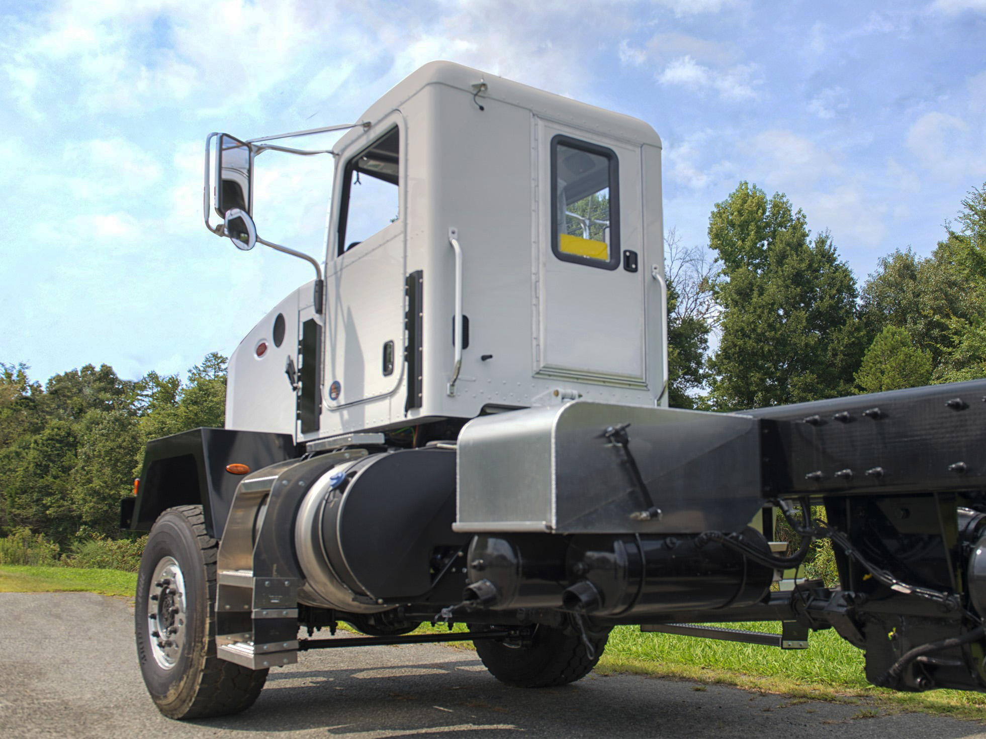
<instances>
[{"instance_id":1,"label":"blue sky with scattered white clouds behind the truck and trees","mask_svg":"<svg viewBox=\"0 0 986 739\"><path fill-rule=\"evenodd\" d=\"M232 352L311 269L205 231L205 135L355 120L440 58L652 123L685 245L747 179L862 282L986 181L984 39L986 0L0 0L0 361L136 378ZM328 158L278 156L261 233L321 254Z\"/></svg>"}]
</instances>

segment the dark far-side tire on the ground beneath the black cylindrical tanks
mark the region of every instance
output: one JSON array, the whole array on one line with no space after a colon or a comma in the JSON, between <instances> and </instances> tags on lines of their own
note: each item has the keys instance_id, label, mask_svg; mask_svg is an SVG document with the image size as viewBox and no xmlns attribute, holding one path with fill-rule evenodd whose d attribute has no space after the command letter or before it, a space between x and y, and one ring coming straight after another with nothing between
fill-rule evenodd
<instances>
[{"instance_id":1,"label":"dark far-side tire on the ground beneath the black cylindrical tanks","mask_svg":"<svg viewBox=\"0 0 986 739\"><path fill-rule=\"evenodd\" d=\"M475 641L479 658L490 674L515 688L549 688L581 680L596 666L605 648L609 630L589 636L590 656L579 632L538 625L528 644L510 640Z\"/></svg>"}]
</instances>

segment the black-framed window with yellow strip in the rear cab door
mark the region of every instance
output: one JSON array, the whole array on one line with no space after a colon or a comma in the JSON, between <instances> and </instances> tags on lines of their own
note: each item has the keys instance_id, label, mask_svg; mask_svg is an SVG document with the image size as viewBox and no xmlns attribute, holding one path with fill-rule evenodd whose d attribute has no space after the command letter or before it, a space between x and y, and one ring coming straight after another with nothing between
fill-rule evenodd
<instances>
[{"instance_id":1,"label":"black-framed window with yellow strip in the rear cab door","mask_svg":"<svg viewBox=\"0 0 986 739\"><path fill-rule=\"evenodd\" d=\"M614 215L616 155L609 149L556 136L552 141L552 248L566 261L607 269L619 244Z\"/></svg>"}]
</instances>

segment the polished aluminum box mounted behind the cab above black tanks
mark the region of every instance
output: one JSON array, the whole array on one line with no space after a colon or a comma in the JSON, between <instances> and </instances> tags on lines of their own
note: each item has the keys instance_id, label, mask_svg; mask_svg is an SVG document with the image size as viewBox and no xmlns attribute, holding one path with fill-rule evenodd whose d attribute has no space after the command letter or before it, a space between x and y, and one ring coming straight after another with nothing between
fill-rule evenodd
<instances>
[{"instance_id":1,"label":"polished aluminum box mounted behind the cab above black tanks","mask_svg":"<svg viewBox=\"0 0 986 739\"><path fill-rule=\"evenodd\" d=\"M605 432L628 448L661 515ZM575 401L470 421L458 437L465 532L740 531L762 507L759 422L748 416Z\"/></svg>"}]
</instances>

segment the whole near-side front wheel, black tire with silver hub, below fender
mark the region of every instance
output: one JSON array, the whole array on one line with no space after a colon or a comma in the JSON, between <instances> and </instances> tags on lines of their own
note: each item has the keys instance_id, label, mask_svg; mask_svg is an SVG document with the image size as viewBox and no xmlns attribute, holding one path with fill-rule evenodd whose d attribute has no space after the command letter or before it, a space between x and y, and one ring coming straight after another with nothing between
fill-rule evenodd
<instances>
[{"instance_id":1,"label":"whole near-side front wheel, black tire with silver hub, below fender","mask_svg":"<svg viewBox=\"0 0 986 739\"><path fill-rule=\"evenodd\" d=\"M140 560L137 656L154 703L171 718L237 713L256 701L267 670L216 655L216 554L201 505L169 508Z\"/></svg>"}]
</instances>

